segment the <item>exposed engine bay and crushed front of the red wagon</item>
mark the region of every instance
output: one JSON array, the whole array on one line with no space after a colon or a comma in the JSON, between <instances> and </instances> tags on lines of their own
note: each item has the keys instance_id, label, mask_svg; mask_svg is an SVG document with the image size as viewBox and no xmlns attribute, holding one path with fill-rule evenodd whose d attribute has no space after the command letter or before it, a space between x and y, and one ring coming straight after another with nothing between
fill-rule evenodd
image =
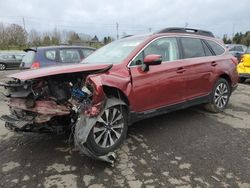
<instances>
[{"instance_id":1,"label":"exposed engine bay and crushed front of the red wagon","mask_svg":"<svg viewBox=\"0 0 250 188\"><path fill-rule=\"evenodd\" d=\"M8 81L6 97L11 115L3 116L8 128L26 132L56 132L76 121L79 111L90 110L91 85L84 85L83 75L52 76L44 79ZM16 124L18 119L23 122ZM13 127L11 127L11 125Z\"/></svg>"}]
</instances>

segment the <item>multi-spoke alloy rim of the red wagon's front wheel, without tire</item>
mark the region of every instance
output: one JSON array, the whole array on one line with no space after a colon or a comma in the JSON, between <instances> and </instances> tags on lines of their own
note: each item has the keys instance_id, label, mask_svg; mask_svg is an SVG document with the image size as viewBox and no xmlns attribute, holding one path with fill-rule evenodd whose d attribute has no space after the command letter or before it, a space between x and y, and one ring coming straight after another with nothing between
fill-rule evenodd
<instances>
[{"instance_id":1,"label":"multi-spoke alloy rim of the red wagon's front wheel, without tire","mask_svg":"<svg viewBox=\"0 0 250 188\"><path fill-rule=\"evenodd\" d=\"M104 111L93 128L95 143L101 148L116 144L122 136L124 118L120 109L111 107Z\"/></svg>"}]
</instances>

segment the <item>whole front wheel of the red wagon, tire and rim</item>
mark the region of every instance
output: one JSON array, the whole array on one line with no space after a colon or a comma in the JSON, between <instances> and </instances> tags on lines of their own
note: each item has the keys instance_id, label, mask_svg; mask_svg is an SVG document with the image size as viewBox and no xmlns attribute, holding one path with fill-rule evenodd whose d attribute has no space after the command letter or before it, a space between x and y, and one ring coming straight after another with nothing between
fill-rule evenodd
<instances>
[{"instance_id":1,"label":"whole front wheel of the red wagon, tire and rim","mask_svg":"<svg viewBox=\"0 0 250 188\"><path fill-rule=\"evenodd\" d=\"M126 108L121 105L109 107L91 129L86 146L96 155L108 154L122 144L127 129Z\"/></svg>"}]
</instances>

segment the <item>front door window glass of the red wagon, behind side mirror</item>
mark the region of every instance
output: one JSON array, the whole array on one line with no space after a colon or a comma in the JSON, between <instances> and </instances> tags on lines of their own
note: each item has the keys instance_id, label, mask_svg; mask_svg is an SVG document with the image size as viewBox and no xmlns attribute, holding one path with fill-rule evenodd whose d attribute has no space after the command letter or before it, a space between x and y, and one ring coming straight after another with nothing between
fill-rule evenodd
<instances>
[{"instance_id":1,"label":"front door window glass of the red wagon, behind side mirror","mask_svg":"<svg viewBox=\"0 0 250 188\"><path fill-rule=\"evenodd\" d=\"M161 38L149 44L131 63L131 66L141 65L147 55L157 54L162 56L162 61L179 59L179 50L176 38Z\"/></svg>"}]
</instances>

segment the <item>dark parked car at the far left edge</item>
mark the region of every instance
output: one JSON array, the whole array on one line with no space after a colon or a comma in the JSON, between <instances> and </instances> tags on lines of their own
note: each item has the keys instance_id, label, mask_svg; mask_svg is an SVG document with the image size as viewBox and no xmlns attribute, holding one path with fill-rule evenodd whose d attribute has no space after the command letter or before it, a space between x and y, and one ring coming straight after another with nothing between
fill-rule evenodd
<instances>
[{"instance_id":1,"label":"dark parked car at the far left edge","mask_svg":"<svg viewBox=\"0 0 250 188\"><path fill-rule=\"evenodd\" d=\"M24 54L0 54L0 70L19 68Z\"/></svg>"}]
</instances>

